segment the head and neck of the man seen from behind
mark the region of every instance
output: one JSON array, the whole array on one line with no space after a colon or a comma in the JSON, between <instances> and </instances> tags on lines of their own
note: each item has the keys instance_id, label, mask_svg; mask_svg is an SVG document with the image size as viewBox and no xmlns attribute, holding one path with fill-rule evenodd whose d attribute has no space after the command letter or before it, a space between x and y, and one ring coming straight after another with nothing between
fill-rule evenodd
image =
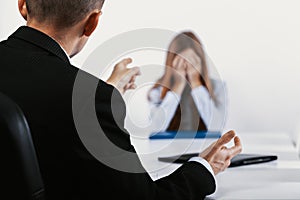
<instances>
[{"instance_id":1,"label":"head and neck of the man seen from behind","mask_svg":"<svg viewBox=\"0 0 300 200\"><path fill-rule=\"evenodd\" d=\"M56 39L73 56L96 29L105 0L18 1L27 25Z\"/></svg>"}]
</instances>

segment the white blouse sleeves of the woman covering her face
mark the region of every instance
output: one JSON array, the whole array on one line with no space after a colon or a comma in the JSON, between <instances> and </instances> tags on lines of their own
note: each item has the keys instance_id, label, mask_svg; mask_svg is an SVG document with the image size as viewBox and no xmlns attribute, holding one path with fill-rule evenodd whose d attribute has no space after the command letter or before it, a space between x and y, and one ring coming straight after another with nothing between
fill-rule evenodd
<instances>
[{"instance_id":1,"label":"white blouse sleeves of the woman covering her face","mask_svg":"<svg viewBox=\"0 0 300 200\"><path fill-rule=\"evenodd\" d=\"M196 87L191 91L199 117L202 118L208 130L218 131L224 127L227 103L224 89L225 87L214 89L216 98L219 100L218 105L212 100L204 86ZM162 100L161 92L162 87L157 87L149 93L152 132L165 131L169 127L181 98L177 93L168 91ZM220 95L222 92L223 95Z\"/></svg>"}]
</instances>

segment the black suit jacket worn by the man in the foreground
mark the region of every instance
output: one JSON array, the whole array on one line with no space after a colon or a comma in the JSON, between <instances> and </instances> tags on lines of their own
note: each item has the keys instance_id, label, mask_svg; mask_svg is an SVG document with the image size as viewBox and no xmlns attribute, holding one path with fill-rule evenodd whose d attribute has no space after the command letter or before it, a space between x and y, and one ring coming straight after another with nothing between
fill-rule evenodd
<instances>
[{"instance_id":1,"label":"black suit jacket worn by the man in the foreground","mask_svg":"<svg viewBox=\"0 0 300 200\"><path fill-rule=\"evenodd\" d=\"M113 117L112 86L72 66L58 43L32 28L20 27L0 43L0 91L27 117L49 199L201 199L215 191L213 176L197 162L153 181L147 173L122 172L98 161L81 142L73 120L78 72L99 82L95 110L107 137L135 152L122 127L126 109L119 93L114 103L119 115ZM137 155L136 163L142 168Z\"/></svg>"}]
</instances>

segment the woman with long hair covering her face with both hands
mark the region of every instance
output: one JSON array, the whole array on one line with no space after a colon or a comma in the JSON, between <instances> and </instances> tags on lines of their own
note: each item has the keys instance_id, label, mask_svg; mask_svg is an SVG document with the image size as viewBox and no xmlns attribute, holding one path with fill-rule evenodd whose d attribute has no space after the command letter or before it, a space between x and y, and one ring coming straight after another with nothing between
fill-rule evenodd
<instances>
[{"instance_id":1,"label":"woman with long hair covering her face with both hands","mask_svg":"<svg viewBox=\"0 0 300 200\"><path fill-rule=\"evenodd\" d=\"M224 96L223 82L209 77L200 40L182 32L171 41L165 72L148 94L152 132L219 131L225 120Z\"/></svg>"}]
</instances>

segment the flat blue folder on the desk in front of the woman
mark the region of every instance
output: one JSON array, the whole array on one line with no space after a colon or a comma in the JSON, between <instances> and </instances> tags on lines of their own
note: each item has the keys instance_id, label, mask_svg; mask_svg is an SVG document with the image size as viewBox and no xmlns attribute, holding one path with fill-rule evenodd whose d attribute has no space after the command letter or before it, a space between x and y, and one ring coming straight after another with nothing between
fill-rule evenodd
<instances>
[{"instance_id":1,"label":"flat blue folder on the desk in front of the woman","mask_svg":"<svg viewBox=\"0 0 300 200\"><path fill-rule=\"evenodd\" d=\"M191 139L191 138L220 138L221 132L217 131L164 131L153 133L149 136L150 140L154 139Z\"/></svg>"}]
</instances>

